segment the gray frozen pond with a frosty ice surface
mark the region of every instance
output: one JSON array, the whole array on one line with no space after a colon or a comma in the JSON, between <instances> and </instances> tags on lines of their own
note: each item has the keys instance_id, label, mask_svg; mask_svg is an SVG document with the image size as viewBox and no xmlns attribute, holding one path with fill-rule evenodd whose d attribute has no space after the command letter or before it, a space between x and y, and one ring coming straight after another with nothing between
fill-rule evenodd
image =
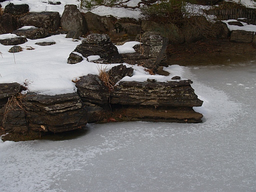
<instances>
[{"instance_id":1,"label":"gray frozen pond with a frosty ice surface","mask_svg":"<svg viewBox=\"0 0 256 192\"><path fill-rule=\"evenodd\" d=\"M88 124L0 143L0 191L256 191L256 62L184 67L203 123Z\"/></svg>"}]
</instances>

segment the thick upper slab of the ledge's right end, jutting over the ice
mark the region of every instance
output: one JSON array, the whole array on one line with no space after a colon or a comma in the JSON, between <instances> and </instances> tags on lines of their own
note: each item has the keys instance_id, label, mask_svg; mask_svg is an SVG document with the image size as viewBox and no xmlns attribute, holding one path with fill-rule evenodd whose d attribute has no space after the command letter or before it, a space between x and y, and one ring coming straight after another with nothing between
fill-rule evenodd
<instances>
[{"instance_id":1,"label":"thick upper slab of the ledge's right end, jutting over the ice","mask_svg":"<svg viewBox=\"0 0 256 192\"><path fill-rule=\"evenodd\" d=\"M191 80L168 82L121 81L111 91L111 104L160 105L160 106L201 106L191 87ZM164 96L163 96L164 95Z\"/></svg>"}]
</instances>

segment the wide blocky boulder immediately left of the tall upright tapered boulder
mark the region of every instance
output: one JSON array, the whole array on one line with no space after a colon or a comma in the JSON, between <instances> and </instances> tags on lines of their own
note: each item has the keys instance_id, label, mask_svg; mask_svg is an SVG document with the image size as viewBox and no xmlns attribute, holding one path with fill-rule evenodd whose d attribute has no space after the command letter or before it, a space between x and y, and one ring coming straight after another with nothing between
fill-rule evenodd
<instances>
[{"instance_id":1,"label":"wide blocky boulder immediately left of the tall upright tapered boulder","mask_svg":"<svg viewBox=\"0 0 256 192\"><path fill-rule=\"evenodd\" d=\"M29 12L19 17L18 26L35 26L45 28L48 31L55 31L60 27L60 16L55 11Z\"/></svg>"}]
</instances>

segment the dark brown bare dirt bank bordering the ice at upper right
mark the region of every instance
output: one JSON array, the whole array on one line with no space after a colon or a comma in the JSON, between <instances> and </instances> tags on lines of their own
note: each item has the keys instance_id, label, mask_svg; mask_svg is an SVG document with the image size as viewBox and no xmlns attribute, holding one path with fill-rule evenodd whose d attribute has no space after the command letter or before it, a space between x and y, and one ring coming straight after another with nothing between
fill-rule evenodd
<instances>
[{"instance_id":1,"label":"dark brown bare dirt bank bordering the ice at upper right","mask_svg":"<svg viewBox=\"0 0 256 192\"><path fill-rule=\"evenodd\" d=\"M252 43L232 42L228 39L205 39L194 43L168 45L167 59L171 65L216 65L256 60Z\"/></svg>"}]
</instances>

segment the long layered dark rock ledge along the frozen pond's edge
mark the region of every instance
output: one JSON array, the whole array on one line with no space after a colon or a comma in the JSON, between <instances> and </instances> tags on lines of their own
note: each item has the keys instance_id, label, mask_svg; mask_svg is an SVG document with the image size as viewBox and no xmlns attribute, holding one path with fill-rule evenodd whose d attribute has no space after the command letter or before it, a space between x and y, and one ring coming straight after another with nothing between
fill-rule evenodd
<instances>
[{"instance_id":1,"label":"long layered dark rock ledge along the frozen pond's edge","mask_svg":"<svg viewBox=\"0 0 256 192\"><path fill-rule=\"evenodd\" d=\"M201 106L202 101L190 86L191 80L119 81L132 72L133 68L120 64L107 72L113 86L88 74L76 82L77 92L58 95L21 95L18 83L0 84L1 129L23 136L29 133L33 138L31 132L63 132L87 122L201 122L202 114L192 107Z\"/></svg>"}]
</instances>

